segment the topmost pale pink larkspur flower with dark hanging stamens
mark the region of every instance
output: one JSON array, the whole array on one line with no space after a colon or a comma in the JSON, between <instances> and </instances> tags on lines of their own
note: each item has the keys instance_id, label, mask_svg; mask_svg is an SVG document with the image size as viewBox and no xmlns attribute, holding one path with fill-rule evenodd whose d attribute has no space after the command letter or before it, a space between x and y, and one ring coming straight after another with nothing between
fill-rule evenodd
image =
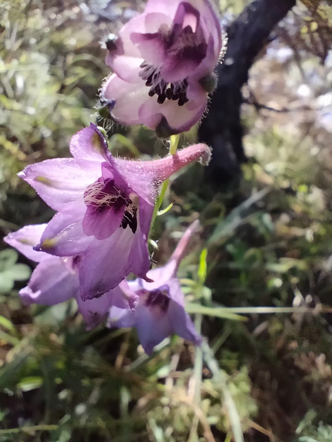
<instances>
[{"instance_id":1,"label":"topmost pale pink larkspur flower with dark hanging stamens","mask_svg":"<svg viewBox=\"0 0 332 442\"><path fill-rule=\"evenodd\" d=\"M169 137L200 120L222 48L209 0L149 0L106 47L114 74L101 95L116 100L116 121L144 124Z\"/></svg>"}]
</instances>

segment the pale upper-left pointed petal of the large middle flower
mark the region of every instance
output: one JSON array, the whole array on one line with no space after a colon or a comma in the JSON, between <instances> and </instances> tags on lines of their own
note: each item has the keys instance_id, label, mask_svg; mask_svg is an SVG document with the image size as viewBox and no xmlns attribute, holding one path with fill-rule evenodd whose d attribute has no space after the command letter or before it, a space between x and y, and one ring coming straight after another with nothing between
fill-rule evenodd
<instances>
[{"instance_id":1,"label":"pale upper-left pointed petal of the large middle flower","mask_svg":"<svg viewBox=\"0 0 332 442\"><path fill-rule=\"evenodd\" d=\"M100 177L100 164L74 158L54 158L31 164L19 177L29 183L54 210L83 199L86 187Z\"/></svg>"}]
</instances>

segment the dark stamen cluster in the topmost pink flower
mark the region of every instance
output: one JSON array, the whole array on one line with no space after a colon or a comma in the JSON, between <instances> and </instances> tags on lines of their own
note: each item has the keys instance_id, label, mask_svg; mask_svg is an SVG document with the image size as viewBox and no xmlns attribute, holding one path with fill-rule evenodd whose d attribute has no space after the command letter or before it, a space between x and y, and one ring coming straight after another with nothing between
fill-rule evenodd
<instances>
[{"instance_id":1,"label":"dark stamen cluster in the topmost pink flower","mask_svg":"<svg viewBox=\"0 0 332 442\"><path fill-rule=\"evenodd\" d=\"M162 104L166 100L178 100L178 106L183 106L188 102L186 95L188 81L186 79L177 81L175 83L166 83L160 74L160 68L155 68L147 63L140 65L142 70L139 76L145 81L145 85L150 88L149 96L158 95L158 103Z\"/></svg>"}]
</instances>

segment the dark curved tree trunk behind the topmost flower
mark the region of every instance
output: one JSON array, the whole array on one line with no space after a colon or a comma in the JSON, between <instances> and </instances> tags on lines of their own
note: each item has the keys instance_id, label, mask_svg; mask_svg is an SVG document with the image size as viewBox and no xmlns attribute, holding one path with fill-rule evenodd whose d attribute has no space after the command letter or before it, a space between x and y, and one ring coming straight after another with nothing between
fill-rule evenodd
<instances>
[{"instance_id":1,"label":"dark curved tree trunk behind the topmost flower","mask_svg":"<svg viewBox=\"0 0 332 442\"><path fill-rule=\"evenodd\" d=\"M218 85L198 131L200 141L212 146L207 174L217 187L231 179L239 171L239 163L246 161L240 108L248 71L271 31L294 5L295 0L254 0L227 29L228 47L224 62L217 68Z\"/></svg>"}]
</instances>

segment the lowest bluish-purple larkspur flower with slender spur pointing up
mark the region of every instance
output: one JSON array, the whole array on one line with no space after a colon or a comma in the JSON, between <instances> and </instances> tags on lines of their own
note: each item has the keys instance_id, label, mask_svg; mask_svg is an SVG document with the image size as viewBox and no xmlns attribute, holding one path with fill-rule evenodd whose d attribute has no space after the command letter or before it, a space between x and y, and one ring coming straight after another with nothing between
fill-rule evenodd
<instances>
[{"instance_id":1,"label":"lowest bluish-purple larkspur flower with slender spur pointing up","mask_svg":"<svg viewBox=\"0 0 332 442\"><path fill-rule=\"evenodd\" d=\"M108 326L135 327L147 354L173 333L196 345L201 343L201 337L185 312L184 296L177 278L185 248L198 225L199 222L195 221L189 226L166 266L147 273L152 282L140 278L128 282L133 293L139 296L134 309L124 310L116 306L110 309Z\"/></svg>"}]
</instances>

